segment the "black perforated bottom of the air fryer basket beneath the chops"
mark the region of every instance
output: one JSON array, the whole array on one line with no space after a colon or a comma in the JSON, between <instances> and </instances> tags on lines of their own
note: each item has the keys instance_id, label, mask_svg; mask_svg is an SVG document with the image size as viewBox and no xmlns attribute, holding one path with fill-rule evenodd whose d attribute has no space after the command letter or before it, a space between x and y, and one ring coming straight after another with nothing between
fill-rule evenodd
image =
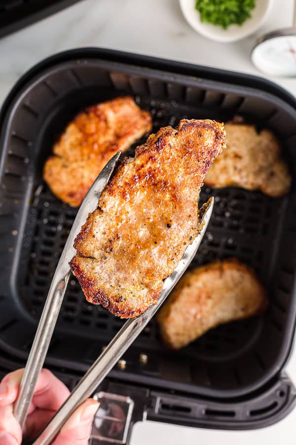
<instances>
[{"instance_id":1,"label":"black perforated bottom of the air fryer basket beneath the chops","mask_svg":"<svg viewBox=\"0 0 296 445\"><path fill-rule=\"evenodd\" d=\"M165 125L175 126L182 118L204 118L192 108L175 102L158 102L136 98L153 116L153 131ZM203 114L205 111L203 110ZM218 119L223 116L212 116ZM140 141L140 143L144 142ZM208 230L190 267L206 264L217 258L237 257L253 267L268 285L274 251L274 233L284 202L259 192L236 188L214 190L203 187L200 203L215 196L215 207ZM23 242L23 282L19 283L22 302L34 318L43 308L53 272L72 227L76 209L55 198L43 183L35 184L35 196L28 213ZM86 302L74 277L70 278L58 320L59 330L79 333L106 344L124 320L111 315L100 306ZM184 348L179 354L206 360L225 360L252 346L261 329L261 317L232 322L209 331ZM145 350L163 350L155 320L152 320L135 342Z\"/></svg>"}]
</instances>

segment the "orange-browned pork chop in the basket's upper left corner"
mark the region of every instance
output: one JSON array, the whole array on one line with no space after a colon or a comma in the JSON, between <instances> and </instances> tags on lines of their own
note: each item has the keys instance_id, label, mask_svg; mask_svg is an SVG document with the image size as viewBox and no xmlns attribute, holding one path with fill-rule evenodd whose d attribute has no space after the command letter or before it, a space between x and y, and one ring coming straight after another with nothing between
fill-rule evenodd
<instances>
[{"instance_id":1,"label":"orange-browned pork chop in the basket's upper left corner","mask_svg":"<svg viewBox=\"0 0 296 445\"><path fill-rule=\"evenodd\" d=\"M43 170L52 192L77 207L118 150L151 130L151 116L132 97L117 97L78 114L53 147Z\"/></svg>"}]
</instances>

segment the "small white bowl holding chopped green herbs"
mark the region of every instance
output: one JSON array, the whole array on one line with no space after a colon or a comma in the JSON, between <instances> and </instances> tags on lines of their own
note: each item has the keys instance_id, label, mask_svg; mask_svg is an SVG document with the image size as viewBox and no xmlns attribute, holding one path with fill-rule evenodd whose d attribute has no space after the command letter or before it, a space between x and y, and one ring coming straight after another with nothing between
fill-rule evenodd
<instances>
[{"instance_id":1,"label":"small white bowl holding chopped green herbs","mask_svg":"<svg viewBox=\"0 0 296 445\"><path fill-rule=\"evenodd\" d=\"M230 25L227 29L210 23L202 23L200 13L195 9L195 0L179 0L179 2L185 19L195 31L217 42L235 42L258 30L269 14L273 0L257 0L255 8L251 10L251 18L241 26Z\"/></svg>"}]
</instances>

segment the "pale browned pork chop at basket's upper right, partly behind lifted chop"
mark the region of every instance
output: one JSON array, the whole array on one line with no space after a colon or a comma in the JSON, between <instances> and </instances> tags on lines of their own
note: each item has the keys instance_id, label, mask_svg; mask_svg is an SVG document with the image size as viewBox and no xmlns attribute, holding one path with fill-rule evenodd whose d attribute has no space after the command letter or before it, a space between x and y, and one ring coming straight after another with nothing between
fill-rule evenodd
<instances>
[{"instance_id":1,"label":"pale browned pork chop at basket's upper right, partly behind lifted chop","mask_svg":"<svg viewBox=\"0 0 296 445\"><path fill-rule=\"evenodd\" d=\"M227 149L213 163L205 184L261 190L273 197L288 193L291 176L275 135L245 124L228 123L225 130Z\"/></svg>"}]
</instances>

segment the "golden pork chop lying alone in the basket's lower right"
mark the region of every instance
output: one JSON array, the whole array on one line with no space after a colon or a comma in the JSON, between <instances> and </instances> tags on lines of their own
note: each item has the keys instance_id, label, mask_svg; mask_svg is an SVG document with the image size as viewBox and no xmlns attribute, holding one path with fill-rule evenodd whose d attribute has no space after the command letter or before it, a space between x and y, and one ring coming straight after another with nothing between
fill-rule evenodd
<instances>
[{"instance_id":1,"label":"golden pork chop lying alone in the basket's lower right","mask_svg":"<svg viewBox=\"0 0 296 445\"><path fill-rule=\"evenodd\" d=\"M165 345L179 349L208 329L260 313L266 305L253 270L229 259L185 272L156 319Z\"/></svg>"}]
</instances>

